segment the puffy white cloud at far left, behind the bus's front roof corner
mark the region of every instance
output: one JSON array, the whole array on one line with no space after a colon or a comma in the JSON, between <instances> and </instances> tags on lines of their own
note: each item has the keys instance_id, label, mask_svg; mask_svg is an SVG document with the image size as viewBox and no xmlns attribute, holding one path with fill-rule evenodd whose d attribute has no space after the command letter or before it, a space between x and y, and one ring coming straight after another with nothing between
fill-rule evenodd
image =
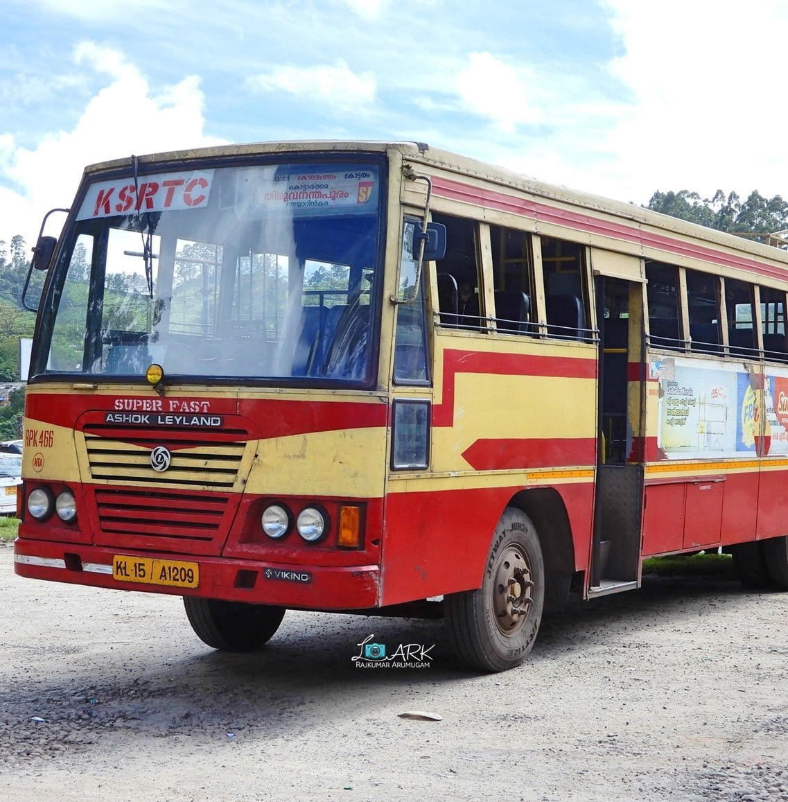
<instances>
[{"instance_id":1,"label":"puffy white cloud at far left, behind the bus's front roof corner","mask_svg":"<svg viewBox=\"0 0 788 802\"><path fill-rule=\"evenodd\" d=\"M0 178L11 184L0 187L0 240L22 234L32 245L42 215L71 203L86 164L219 143L203 133L204 98L196 76L156 93L118 51L83 43L75 61L110 81L71 131L47 134L35 148L0 137Z\"/></svg>"}]
</instances>

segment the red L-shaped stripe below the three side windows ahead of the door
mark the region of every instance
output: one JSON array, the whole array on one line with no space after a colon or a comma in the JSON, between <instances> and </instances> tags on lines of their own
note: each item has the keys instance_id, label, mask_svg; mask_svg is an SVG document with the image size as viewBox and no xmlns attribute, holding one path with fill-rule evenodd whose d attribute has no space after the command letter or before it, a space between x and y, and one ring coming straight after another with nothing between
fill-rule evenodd
<instances>
[{"instance_id":1,"label":"red L-shaped stripe below the three side windows ahead of the door","mask_svg":"<svg viewBox=\"0 0 788 802\"><path fill-rule=\"evenodd\" d=\"M596 354L596 352L595 352ZM455 383L458 374L543 376L564 379L596 379L596 358L539 356L535 354L485 354L480 351L443 352L443 398L432 410L433 426L454 426Z\"/></svg>"}]
</instances>

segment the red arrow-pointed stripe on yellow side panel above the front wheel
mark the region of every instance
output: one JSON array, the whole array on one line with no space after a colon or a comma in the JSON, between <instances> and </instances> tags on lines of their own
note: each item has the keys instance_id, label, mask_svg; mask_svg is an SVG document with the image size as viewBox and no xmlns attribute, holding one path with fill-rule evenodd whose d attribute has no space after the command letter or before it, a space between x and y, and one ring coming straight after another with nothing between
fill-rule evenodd
<instances>
[{"instance_id":1,"label":"red arrow-pointed stripe on yellow side panel above the front wheel","mask_svg":"<svg viewBox=\"0 0 788 802\"><path fill-rule=\"evenodd\" d=\"M561 468L596 463L595 437L478 439L463 452L476 471Z\"/></svg>"}]
</instances>

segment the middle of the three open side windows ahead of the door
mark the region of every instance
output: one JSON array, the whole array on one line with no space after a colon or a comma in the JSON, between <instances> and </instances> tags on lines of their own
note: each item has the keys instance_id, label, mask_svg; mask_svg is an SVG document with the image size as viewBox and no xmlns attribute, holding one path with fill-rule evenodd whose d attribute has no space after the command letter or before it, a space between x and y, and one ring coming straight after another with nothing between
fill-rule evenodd
<instances>
[{"instance_id":1,"label":"middle of the three open side windows ahead of the door","mask_svg":"<svg viewBox=\"0 0 788 802\"><path fill-rule=\"evenodd\" d=\"M495 290L495 327L507 334L538 334L534 314L531 237L515 229L490 226Z\"/></svg>"}]
</instances>

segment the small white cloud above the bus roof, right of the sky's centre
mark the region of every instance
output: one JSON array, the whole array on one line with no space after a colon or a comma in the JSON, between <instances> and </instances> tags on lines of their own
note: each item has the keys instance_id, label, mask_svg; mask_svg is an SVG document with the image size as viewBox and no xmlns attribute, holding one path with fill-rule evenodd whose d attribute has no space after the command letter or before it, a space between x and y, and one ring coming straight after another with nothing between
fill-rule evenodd
<instances>
[{"instance_id":1,"label":"small white cloud above the bus roof, right of the sky's centre","mask_svg":"<svg viewBox=\"0 0 788 802\"><path fill-rule=\"evenodd\" d=\"M506 133L539 122L541 115L527 90L528 83L535 83L530 71L515 71L490 53L471 53L468 58L467 68L457 76L457 92L468 111L487 117Z\"/></svg>"}]
</instances>

